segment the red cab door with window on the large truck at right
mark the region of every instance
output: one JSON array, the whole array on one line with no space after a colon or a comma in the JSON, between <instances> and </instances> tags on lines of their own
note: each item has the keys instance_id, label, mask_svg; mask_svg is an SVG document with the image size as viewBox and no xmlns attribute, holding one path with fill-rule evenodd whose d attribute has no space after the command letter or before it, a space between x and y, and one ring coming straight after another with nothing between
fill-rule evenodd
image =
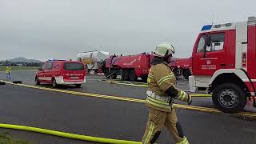
<instances>
[{"instance_id":1,"label":"red cab door with window on the large truck at right","mask_svg":"<svg viewBox=\"0 0 256 144\"><path fill-rule=\"evenodd\" d=\"M193 74L213 75L216 70L230 67L226 63L226 40L224 31L199 35L192 58Z\"/></svg>"}]
</instances>

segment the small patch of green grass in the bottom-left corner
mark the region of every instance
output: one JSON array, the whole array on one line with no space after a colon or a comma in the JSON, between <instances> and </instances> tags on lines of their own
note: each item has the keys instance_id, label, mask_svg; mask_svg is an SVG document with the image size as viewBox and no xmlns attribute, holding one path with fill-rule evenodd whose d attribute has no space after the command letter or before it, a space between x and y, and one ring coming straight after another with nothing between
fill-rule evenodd
<instances>
[{"instance_id":1,"label":"small patch of green grass in the bottom-left corner","mask_svg":"<svg viewBox=\"0 0 256 144\"><path fill-rule=\"evenodd\" d=\"M17 138L13 138L10 134L1 133L0 134L0 143L1 144L32 144L32 142L20 140Z\"/></svg>"}]
</instances>

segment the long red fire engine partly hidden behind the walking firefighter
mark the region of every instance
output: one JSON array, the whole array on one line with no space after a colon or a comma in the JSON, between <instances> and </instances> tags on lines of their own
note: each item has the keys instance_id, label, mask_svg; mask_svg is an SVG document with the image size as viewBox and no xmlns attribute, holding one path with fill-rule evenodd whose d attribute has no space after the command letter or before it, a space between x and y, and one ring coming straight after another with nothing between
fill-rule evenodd
<instances>
[{"instance_id":1,"label":"long red fire engine partly hidden behind the walking firefighter","mask_svg":"<svg viewBox=\"0 0 256 144\"><path fill-rule=\"evenodd\" d=\"M137 81L138 78L146 81L153 57L154 55L146 53L110 56L106 59L103 71L106 78L117 78L117 75L121 75L122 80L125 81ZM190 66L190 58L176 58L170 63L170 68L174 71L174 74L183 78L189 78Z\"/></svg>"}]
</instances>

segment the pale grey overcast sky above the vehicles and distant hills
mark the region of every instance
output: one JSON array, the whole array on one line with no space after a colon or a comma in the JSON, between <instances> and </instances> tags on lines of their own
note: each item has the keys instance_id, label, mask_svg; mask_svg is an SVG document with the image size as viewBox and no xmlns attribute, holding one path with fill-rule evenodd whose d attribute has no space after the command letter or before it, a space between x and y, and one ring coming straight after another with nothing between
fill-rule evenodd
<instances>
[{"instance_id":1,"label":"pale grey overcast sky above the vehicles and distant hills","mask_svg":"<svg viewBox=\"0 0 256 144\"><path fill-rule=\"evenodd\" d=\"M170 42L190 57L203 25L256 16L255 0L0 0L0 60L138 54Z\"/></svg>"}]
</instances>

